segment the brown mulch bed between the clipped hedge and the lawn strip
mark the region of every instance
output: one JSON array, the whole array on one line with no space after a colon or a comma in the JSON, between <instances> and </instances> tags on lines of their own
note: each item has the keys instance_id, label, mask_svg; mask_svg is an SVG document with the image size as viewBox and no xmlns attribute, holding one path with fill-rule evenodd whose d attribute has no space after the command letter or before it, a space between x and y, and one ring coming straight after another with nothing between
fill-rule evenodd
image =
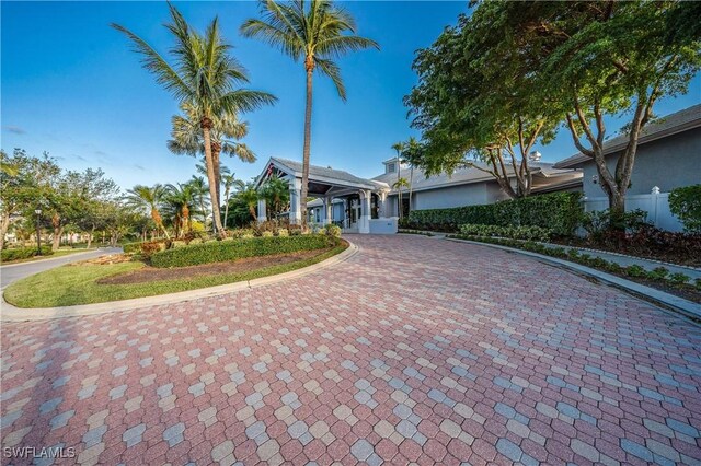
<instances>
[{"instance_id":1,"label":"brown mulch bed between the clipped hedge and the lawn strip","mask_svg":"<svg viewBox=\"0 0 701 466\"><path fill-rule=\"evenodd\" d=\"M177 267L172 269L161 269L156 267L145 267L128 273L113 277L105 277L96 282L100 284L129 284L147 283L160 280L176 280L182 278L202 277L221 273L242 273L257 270L271 266L279 266L299 260L309 259L327 253L332 248L300 251L298 253L277 254L273 256L246 257L231 263L203 264L200 266Z\"/></svg>"}]
</instances>

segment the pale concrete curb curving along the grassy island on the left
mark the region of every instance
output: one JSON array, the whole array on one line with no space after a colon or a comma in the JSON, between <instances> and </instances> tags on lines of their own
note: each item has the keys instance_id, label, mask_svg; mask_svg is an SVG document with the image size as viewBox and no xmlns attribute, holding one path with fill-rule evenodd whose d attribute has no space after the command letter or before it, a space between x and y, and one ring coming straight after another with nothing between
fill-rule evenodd
<instances>
[{"instance_id":1,"label":"pale concrete curb curving along the grassy island on the left","mask_svg":"<svg viewBox=\"0 0 701 466\"><path fill-rule=\"evenodd\" d=\"M346 240L347 241L347 240ZM332 267L348 260L358 253L359 248L348 241L348 247L333 257L321 263L292 270L285 273L274 275L269 277L256 278L254 280L239 281L235 283L220 284L218 287L200 288L198 290L181 291L177 293L160 294L157 296L136 298L133 300L111 301L107 303L82 304L77 306L62 307L37 307L22 308L15 307L4 300L2 296L2 305L0 306L0 322L26 322L26 321L45 321L53 318L81 317L87 315L106 314L111 312L133 311L137 308L151 307L162 304L182 303L202 298L220 296L250 288L257 288L267 284L278 283L302 277L326 267Z\"/></svg>"}]
</instances>

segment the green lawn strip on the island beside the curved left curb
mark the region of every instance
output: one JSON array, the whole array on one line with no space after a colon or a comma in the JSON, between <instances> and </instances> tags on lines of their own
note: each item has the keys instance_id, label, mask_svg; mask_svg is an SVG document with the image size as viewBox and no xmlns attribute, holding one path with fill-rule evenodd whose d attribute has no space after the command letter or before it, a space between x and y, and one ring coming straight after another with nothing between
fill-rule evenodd
<instances>
[{"instance_id":1,"label":"green lawn strip on the island beside the curved left curb","mask_svg":"<svg viewBox=\"0 0 701 466\"><path fill-rule=\"evenodd\" d=\"M253 280L297 270L327 259L343 252L346 247L348 247L348 244L343 242L333 249L310 257L309 259L278 266L268 266L246 272L160 280L147 283L96 283L101 278L140 269L145 267L142 263L62 266L12 283L7 288L4 299L18 307L55 307L154 296L158 294Z\"/></svg>"}]
</instances>

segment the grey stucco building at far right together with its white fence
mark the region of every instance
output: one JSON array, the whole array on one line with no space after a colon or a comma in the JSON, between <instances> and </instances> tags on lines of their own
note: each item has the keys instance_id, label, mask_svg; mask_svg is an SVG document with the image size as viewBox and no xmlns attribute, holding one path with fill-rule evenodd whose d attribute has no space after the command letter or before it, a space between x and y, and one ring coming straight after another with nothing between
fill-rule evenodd
<instances>
[{"instance_id":1,"label":"grey stucco building at far right together with its white fence","mask_svg":"<svg viewBox=\"0 0 701 466\"><path fill-rule=\"evenodd\" d=\"M622 135L604 144L609 170L628 144ZM583 174L585 210L608 208L594 161L576 153L554 164L555 168L574 168ZM679 220L669 211L669 191L677 187L701 184L701 104L667 115L642 130L625 196L625 210L642 209L655 226L681 231Z\"/></svg>"}]
</instances>

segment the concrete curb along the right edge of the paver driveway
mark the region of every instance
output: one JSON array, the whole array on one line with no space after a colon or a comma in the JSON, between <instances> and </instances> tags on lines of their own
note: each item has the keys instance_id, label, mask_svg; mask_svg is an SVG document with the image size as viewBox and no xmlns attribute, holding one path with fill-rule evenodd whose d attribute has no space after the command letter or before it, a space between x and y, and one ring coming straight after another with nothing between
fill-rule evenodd
<instances>
[{"instance_id":1,"label":"concrete curb along the right edge of the paver driveway","mask_svg":"<svg viewBox=\"0 0 701 466\"><path fill-rule=\"evenodd\" d=\"M585 267L579 264L571 263L568 260L559 259L556 257L550 257L538 253L531 253L530 251L517 249L514 247L502 246L499 244L480 243L479 241L446 238L456 243L475 244L478 246L494 247L497 249L508 251L512 253L522 254L525 256L533 257L540 261L564 267L574 272L594 277L602 282L611 284L618 289L629 292L630 294L641 298L647 302L652 302L663 311L673 311L678 314L682 314L687 317L694 319L701 319L701 304L696 304L691 301L685 300L674 294L665 293L664 291L655 288L645 287L644 284L635 283L634 281L625 280L611 273L602 272L600 270Z\"/></svg>"}]
</instances>

